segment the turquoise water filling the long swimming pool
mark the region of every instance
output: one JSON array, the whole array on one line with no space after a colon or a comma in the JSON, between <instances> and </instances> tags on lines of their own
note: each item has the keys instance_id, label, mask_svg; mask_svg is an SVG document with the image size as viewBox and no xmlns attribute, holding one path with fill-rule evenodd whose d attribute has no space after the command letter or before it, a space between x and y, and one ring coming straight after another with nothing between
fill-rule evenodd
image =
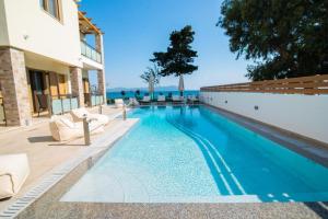
<instances>
[{"instance_id":1,"label":"turquoise water filling the long swimming pool","mask_svg":"<svg viewBox=\"0 0 328 219\"><path fill-rule=\"evenodd\" d=\"M328 169L206 106L144 107L62 197L93 203L328 200Z\"/></svg>"}]
</instances>

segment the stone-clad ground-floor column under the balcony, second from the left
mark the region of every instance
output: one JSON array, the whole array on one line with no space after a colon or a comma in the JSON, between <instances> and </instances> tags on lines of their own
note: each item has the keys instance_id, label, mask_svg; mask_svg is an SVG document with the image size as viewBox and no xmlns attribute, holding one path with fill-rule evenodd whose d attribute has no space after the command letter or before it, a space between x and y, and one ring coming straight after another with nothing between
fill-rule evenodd
<instances>
[{"instance_id":1,"label":"stone-clad ground-floor column under the balcony, second from the left","mask_svg":"<svg viewBox=\"0 0 328 219\"><path fill-rule=\"evenodd\" d=\"M82 82L82 69L77 67L70 68L70 79L72 94L78 96L80 107L84 106L84 93Z\"/></svg>"}]
</instances>

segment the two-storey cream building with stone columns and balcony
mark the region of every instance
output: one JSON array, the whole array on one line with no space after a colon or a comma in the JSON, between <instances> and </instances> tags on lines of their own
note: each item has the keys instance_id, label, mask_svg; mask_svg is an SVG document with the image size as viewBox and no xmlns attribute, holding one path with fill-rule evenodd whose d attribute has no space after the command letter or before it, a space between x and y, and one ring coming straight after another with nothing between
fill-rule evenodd
<instances>
[{"instance_id":1,"label":"two-storey cream building with stone columns and balcony","mask_svg":"<svg viewBox=\"0 0 328 219\"><path fill-rule=\"evenodd\" d=\"M92 95L106 100L103 33L85 15L74 0L0 0L0 117L7 125L28 125L40 110L52 114L56 100L61 107L72 97L79 106L92 105Z\"/></svg>"}]
</instances>

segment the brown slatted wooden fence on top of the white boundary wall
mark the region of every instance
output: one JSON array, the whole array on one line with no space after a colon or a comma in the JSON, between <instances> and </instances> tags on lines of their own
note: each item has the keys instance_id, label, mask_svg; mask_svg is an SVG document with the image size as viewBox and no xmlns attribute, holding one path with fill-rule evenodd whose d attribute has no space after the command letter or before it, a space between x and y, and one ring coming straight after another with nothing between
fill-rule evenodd
<instances>
[{"instance_id":1,"label":"brown slatted wooden fence on top of the white boundary wall","mask_svg":"<svg viewBox=\"0 0 328 219\"><path fill-rule=\"evenodd\" d=\"M203 87L206 92L328 94L328 74Z\"/></svg>"}]
</instances>

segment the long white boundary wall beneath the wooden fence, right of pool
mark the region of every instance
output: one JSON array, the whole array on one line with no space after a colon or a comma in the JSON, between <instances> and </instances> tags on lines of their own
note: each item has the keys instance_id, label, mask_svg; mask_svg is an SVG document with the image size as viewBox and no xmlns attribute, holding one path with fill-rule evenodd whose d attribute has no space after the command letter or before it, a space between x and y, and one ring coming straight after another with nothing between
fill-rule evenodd
<instances>
[{"instance_id":1,"label":"long white boundary wall beneath the wooden fence, right of pool","mask_svg":"<svg viewBox=\"0 0 328 219\"><path fill-rule=\"evenodd\" d=\"M201 91L200 100L328 143L328 95Z\"/></svg>"}]
</instances>

